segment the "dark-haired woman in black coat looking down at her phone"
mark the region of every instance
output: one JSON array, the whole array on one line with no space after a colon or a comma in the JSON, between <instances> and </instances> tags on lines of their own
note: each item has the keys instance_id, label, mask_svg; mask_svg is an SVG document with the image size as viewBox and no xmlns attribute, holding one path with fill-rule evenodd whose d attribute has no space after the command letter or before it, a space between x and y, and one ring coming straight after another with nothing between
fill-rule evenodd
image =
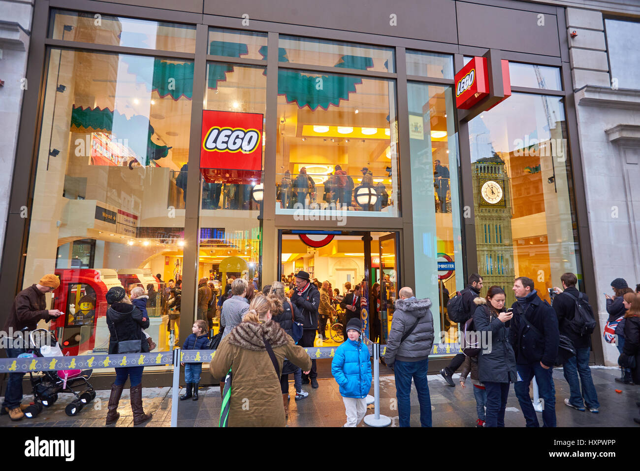
<instances>
[{"instance_id":1,"label":"dark-haired woman in black coat looking down at her phone","mask_svg":"<svg viewBox=\"0 0 640 471\"><path fill-rule=\"evenodd\" d=\"M500 286L491 286L486 298L474 299L477 306L475 329L479 333L488 333L481 335L483 350L478 354L478 379L486 389L485 427L504 427L509 383L515 383L518 377L506 324L513 314L504 312L504 301L504 291ZM489 345L485 345L484 339L490 339Z\"/></svg>"}]
</instances>

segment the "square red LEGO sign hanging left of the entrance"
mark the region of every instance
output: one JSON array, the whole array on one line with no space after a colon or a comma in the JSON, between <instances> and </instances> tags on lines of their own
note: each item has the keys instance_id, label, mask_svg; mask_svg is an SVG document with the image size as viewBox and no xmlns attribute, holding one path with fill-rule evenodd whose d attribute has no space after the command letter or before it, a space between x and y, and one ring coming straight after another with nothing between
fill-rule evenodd
<instances>
[{"instance_id":1,"label":"square red LEGO sign hanging left of the entrance","mask_svg":"<svg viewBox=\"0 0 640 471\"><path fill-rule=\"evenodd\" d=\"M200 172L205 181L260 182L262 121L259 113L202 112Z\"/></svg>"}]
</instances>

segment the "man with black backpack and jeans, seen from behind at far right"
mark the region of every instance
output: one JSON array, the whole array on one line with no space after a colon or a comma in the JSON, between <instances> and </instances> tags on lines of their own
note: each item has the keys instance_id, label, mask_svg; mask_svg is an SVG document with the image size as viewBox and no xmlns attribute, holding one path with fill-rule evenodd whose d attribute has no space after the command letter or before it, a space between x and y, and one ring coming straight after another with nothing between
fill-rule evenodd
<instances>
[{"instance_id":1,"label":"man with black backpack and jeans, seen from behind at far right","mask_svg":"<svg viewBox=\"0 0 640 471\"><path fill-rule=\"evenodd\" d=\"M584 411L586 405L589 411L597 414L600 404L589 368L591 333L596 324L593 310L587 295L575 288L578 278L573 273L565 273L560 280L564 291L555 288L559 294L553 300L553 308L558 317L560 333L570 338L576 353L563 363L564 379L571 392L569 399L564 399L564 404L579 411Z\"/></svg>"}]
</instances>

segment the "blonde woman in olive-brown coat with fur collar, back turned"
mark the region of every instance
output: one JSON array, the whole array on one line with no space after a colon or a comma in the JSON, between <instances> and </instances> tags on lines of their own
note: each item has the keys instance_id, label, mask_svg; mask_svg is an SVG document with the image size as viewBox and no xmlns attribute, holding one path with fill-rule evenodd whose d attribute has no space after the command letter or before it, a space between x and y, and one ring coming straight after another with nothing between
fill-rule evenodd
<instances>
[{"instance_id":1,"label":"blonde woman in olive-brown coat with fur collar, back turned","mask_svg":"<svg viewBox=\"0 0 640 471\"><path fill-rule=\"evenodd\" d=\"M275 296L253 298L243 322L223 338L209 363L213 377L220 378L232 370L229 427L284 427L286 424L280 372L285 358L307 371L311 359L284 329L273 320L271 312L282 311L282 301ZM276 372L264 340L271 345Z\"/></svg>"}]
</instances>

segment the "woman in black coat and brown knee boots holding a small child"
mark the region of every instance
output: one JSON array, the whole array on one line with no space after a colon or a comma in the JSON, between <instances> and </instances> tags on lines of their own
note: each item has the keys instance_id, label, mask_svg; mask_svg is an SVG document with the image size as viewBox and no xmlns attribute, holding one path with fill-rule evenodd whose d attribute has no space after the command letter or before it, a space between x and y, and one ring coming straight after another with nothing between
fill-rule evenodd
<instances>
[{"instance_id":1,"label":"woman in black coat and brown knee boots holding a small child","mask_svg":"<svg viewBox=\"0 0 640 471\"><path fill-rule=\"evenodd\" d=\"M118 342L125 340L140 340L140 351L148 352L149 345L142 329L147 329L149 320L143 317L142 311L131 304L124 288L115 286L106 295L109 304L106 320L109 327L109 354L118 354ZM118 402L124 389L124 383L129 377L131 382L131 410L133 412L133 424L137 426L147 422L152 414L145 414L142 408L142 370L144 367L116 368L116 379L111 384L111 396L106 425L113 424L120 418Z\"/></svg>"}]
</instances>

